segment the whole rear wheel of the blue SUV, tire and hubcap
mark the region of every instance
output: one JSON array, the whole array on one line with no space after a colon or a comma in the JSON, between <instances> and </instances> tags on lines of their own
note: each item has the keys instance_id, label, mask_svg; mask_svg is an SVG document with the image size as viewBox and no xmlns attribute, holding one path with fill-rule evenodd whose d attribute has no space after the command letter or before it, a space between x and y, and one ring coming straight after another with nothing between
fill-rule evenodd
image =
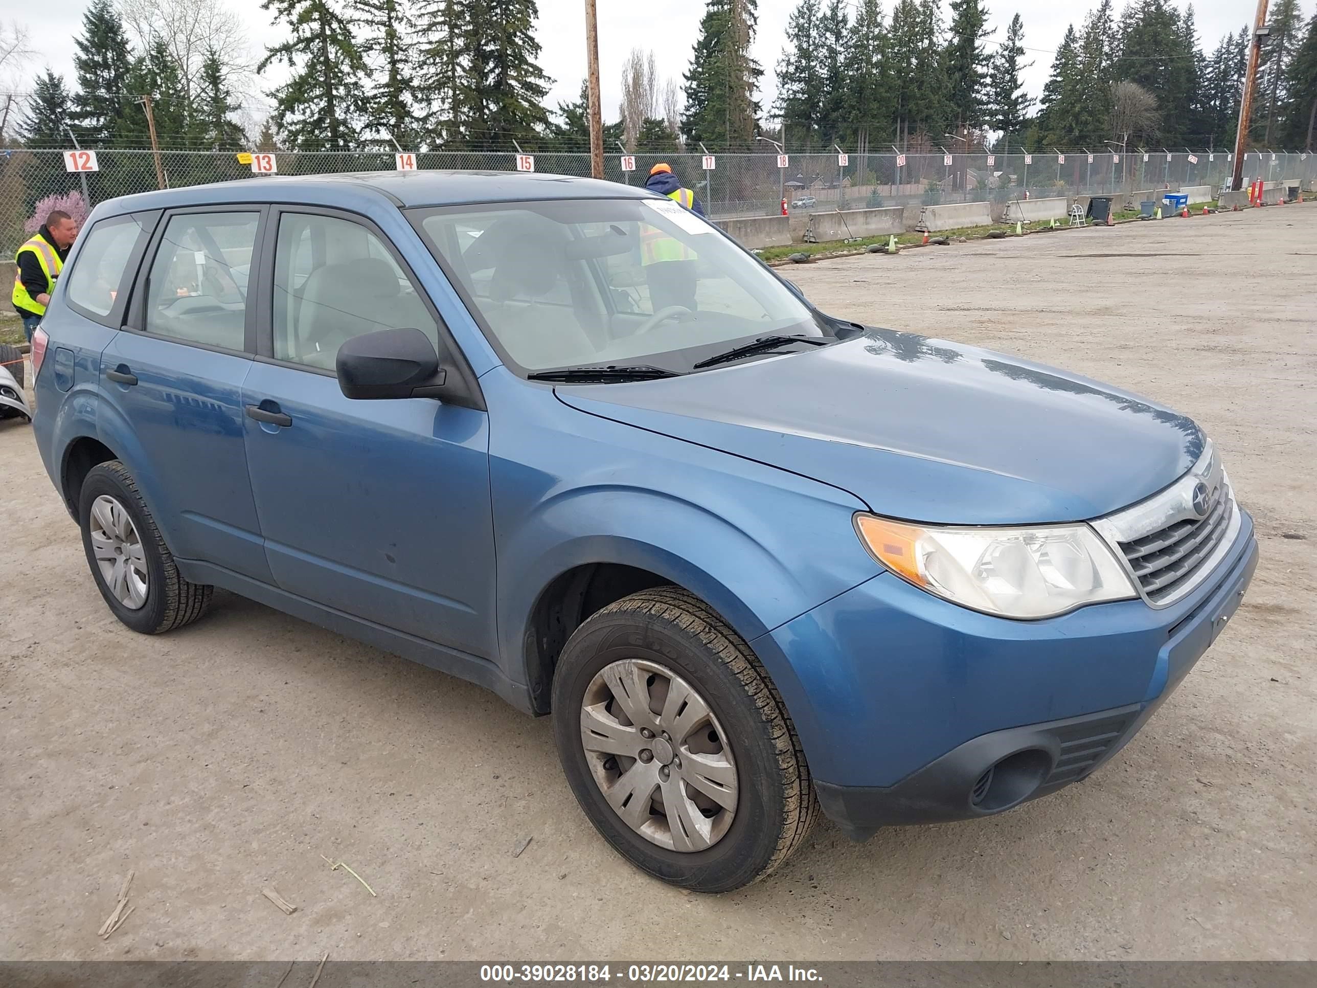
<instances>
[{"instance_id":1,"label":"whole rear wheel of the blue SUV, tire and hubcap","mask_svg":"<svg viewBox=\"0 0 1317 988\"><path fill-rule=\"evenodd\" d=\"M96 588L124 624L157 635L205 613L213 588L190 584L178 572L137 483L119 460L87 472L78 518Z\"/></svg>"}]
</instances>

